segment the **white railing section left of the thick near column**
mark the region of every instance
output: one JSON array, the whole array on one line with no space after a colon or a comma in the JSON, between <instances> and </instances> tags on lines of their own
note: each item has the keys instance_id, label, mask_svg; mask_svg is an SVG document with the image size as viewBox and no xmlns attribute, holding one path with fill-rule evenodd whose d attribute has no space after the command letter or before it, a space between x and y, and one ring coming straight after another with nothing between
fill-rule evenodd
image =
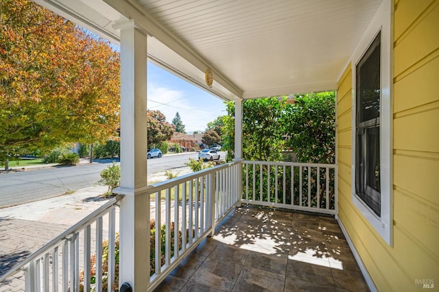
<instances>
[{"instance_id":1,"label":"white railing section left of the thick near column","mask_svg":"<svg viewBox=\"0 0 439 292\"><path fill-rule=\"evenodd\" d=\"M112 291L115 283L116 208L113 197L90 215L5 273L0 283L24 269L25 291ZM104 228L108 221L108 229ZM93 230L93 232L92 232ZM37 234L36 234L37 236ZM103 242L106 241L106 250ZM108 243L108 244L107 244ZM106 271L103 271L103 262ZM91 278L93 280L91 280ZM94 282L95 284L91 284Z\"/></svg>"}]
</instances>

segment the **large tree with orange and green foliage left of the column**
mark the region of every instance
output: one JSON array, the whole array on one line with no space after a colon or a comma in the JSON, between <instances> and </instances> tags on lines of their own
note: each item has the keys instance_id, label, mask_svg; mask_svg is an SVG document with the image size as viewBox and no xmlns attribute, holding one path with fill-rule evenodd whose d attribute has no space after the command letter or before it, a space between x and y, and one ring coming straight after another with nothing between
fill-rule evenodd
<instances>
[{"instance_id":1,"label":"large tree with orange and green foliage left of the column","mask_svg":"<svg viewBox=\"0 0 439 292\"><path fill-rule=\"evenodd\" d=\"M0 155L102 142L119 123L119 53L26 0L0 6Z\"/></svg>"}]
</instances>

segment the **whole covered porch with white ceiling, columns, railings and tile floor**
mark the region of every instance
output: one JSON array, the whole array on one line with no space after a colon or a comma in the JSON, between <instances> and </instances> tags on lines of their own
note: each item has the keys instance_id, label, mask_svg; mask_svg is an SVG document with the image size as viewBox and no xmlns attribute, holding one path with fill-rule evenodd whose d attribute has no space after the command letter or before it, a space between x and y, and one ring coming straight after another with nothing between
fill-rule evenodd
<instances>
[{"instance_id":1,"label":"whole covered porch with white ceiling, columns, railings and tile floor","mask_svg":"<svg viewBox=\"0 0 439 292\"><path fill-rule=\"evenodd\" d=\"M36 2L121 47L121 187L4 278L23 269L27 291L368 290L335 219L337 165L243 160L242 103L336 90L382 1ZM233 162L147 185L148 60L235 101Z\"/></svg>"}]
</instances>

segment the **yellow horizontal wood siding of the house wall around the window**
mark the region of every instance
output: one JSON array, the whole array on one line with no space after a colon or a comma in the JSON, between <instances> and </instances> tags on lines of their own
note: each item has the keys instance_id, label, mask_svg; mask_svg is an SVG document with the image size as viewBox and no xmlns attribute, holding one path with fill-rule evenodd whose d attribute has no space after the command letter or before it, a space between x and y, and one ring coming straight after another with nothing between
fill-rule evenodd
<instances>
[{"instance_id":1,"label":"yellow horizontal wood siding of the house wall around the window","mask_svg":"<svg viewBox=\"0 0 439 292\"><path fill-rule=\"evenodd\" d=\"M379 291L423 291L416 279L437 289L439 0L397 1L393 44L394 245L351 202L351 66L337 94L339 217Z\"/></svg>"}]
</instances>

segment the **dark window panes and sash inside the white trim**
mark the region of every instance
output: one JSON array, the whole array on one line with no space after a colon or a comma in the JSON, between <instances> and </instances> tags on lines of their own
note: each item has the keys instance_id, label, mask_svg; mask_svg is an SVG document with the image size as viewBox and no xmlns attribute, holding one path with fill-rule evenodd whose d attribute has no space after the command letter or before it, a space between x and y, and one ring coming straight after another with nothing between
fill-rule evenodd
<instances>
[{"instance_id":1,"label":"dark window panes and sash inside the white trim","mask_svg":"<svg viewBox=\"0 0 439 292\"><path fill-rule=\"evenodd\" d=\"M381 32L361 57L355 71L355 193L380 217Z\"/></svg>"}]
</instances>

